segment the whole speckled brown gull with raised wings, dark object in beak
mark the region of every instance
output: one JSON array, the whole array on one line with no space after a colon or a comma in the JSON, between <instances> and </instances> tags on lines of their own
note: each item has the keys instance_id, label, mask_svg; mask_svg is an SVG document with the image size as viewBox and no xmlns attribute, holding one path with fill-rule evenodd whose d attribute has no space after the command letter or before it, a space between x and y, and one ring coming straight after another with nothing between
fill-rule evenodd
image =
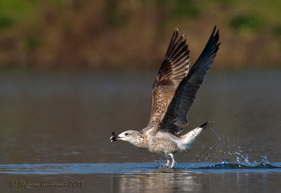
<instances>
[{"instance_id":1,"label":"whole speckled brown gull with raised wings, dark object in beak","mask_svg":"<svg viewBox=\"0 0 281 193\"><path fill-rule=\"evenodd\" d=\"M178 37L175 29L152 88L152 112L148 126L141 131L124 131L119 135L112 132L111 142L128 141L150 152L165 154L172 159L171 168L176 163L174 153L190 148L208 122L182 135L188 125L188 111L205 75L218 51L218 30L216 26L209 41L189 71L190 55L186 39ZM170 161L167 159L166 166Z\"/></svg>"}]
</instances>

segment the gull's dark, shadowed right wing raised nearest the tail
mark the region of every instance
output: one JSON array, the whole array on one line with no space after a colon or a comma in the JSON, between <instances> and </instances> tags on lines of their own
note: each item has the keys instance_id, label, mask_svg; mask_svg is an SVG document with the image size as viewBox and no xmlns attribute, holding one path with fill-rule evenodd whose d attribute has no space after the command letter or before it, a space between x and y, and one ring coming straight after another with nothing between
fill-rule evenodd
<instances>
[{"instance_id":1,"label":"gull's dark, shadowed right wing raised nearest the tail","mask_svg":"<svg viewBox=\"0 0 281 193\"><path fill-rule=\"evenodd\" d=\"M188 124L188 111L218 51L219 35L218 31L216 34L215 32L216 26L200 57L190 69L188 76L185 76L178 86L159 126L160 130L180 134L183 126Z\"/></svg>"}]
</instances>

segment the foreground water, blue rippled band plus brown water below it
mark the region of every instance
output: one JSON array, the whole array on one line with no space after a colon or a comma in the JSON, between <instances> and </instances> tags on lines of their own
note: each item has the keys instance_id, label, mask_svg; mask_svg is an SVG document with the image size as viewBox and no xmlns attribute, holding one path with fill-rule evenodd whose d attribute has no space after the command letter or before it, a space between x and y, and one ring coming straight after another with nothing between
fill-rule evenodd
<instances>
[{"instance_id":1,"label":"foreground water, blue rippled band plus brown water below it","mask_svg":"<svg viewBox=\"0 0 281 193\"><path fill-rule=\"evenodd\" d=\"M0 171L9 192L278 192L281 163L8 164Z\"/></svg>"}]
</instances>

